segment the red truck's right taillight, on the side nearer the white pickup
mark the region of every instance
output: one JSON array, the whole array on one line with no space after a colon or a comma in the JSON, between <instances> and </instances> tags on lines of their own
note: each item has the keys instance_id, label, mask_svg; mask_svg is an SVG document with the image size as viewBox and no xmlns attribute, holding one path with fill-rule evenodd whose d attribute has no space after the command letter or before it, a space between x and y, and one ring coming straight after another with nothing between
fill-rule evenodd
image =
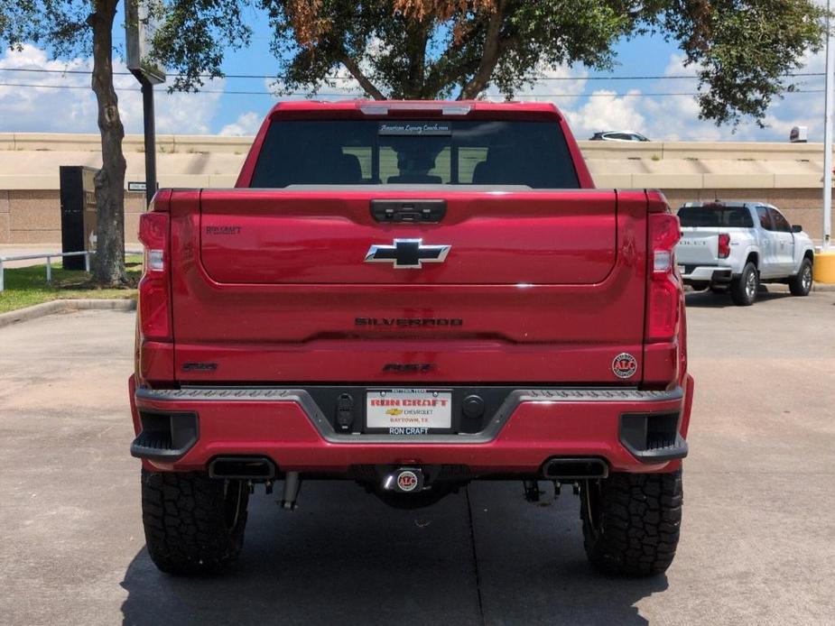
<instances>
[{"instance_id":1,"label":"red truck's right taillight, on the side nearer the white pickup","mask_svg":"<svg viewBox=\"0 0 835 626\"><path fill-rule=\"evenodd\" d=\"M647 218L652 272L646 296L646 341L672 341L678 331L682 289L674 253L681 237L679 218L671 213L651 213Z\"/></svg>"}]
</instances>

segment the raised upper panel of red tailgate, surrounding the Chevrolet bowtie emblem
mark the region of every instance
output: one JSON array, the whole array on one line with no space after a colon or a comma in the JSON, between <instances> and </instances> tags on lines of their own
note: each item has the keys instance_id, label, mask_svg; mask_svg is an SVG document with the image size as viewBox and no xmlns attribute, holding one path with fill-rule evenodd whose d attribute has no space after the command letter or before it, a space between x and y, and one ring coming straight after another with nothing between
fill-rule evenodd
<instances>
[{"instance_id":1,"label":"raised upper panel of red tailgate, surrounding the Chevrolet bowtie emblem","mask_svg":"<svg viewBox=\"0 0 835 626\"><path fill-rule=\"evenodd\" d=\"M448 196L437 224L381 224L370 211L379 192L236 192L230 203L204 191L200 261L230 284L590 284L615 265L613 193ZM449 245L450 257L402 271L363 262L372 245L398 238Z\"/></svg>"}]
</instances>

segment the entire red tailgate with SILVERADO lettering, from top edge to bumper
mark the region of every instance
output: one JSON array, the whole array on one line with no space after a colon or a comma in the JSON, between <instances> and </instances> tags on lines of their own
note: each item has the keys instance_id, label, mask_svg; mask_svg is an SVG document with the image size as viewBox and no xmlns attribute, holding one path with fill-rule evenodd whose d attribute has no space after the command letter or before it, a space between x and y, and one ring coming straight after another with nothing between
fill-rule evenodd
<instances>
[{"instance_id":1,"label":"entire red tailgate with SILVERADO lettering, from top edge to bumper","mask_svg":"<svg viewBox=\"0 0 835 626\"><path fill-rule=\"evenodd\" d=\"M375 199L445 199L438 224ZM625 382L644 336L642 191L204 190L172 194L182 382ZM372 245L444 262L365 262ZM391 365L394 364L394 367ZM419 364L418 370L401 365Z\"/></svg>"}]
</instances>

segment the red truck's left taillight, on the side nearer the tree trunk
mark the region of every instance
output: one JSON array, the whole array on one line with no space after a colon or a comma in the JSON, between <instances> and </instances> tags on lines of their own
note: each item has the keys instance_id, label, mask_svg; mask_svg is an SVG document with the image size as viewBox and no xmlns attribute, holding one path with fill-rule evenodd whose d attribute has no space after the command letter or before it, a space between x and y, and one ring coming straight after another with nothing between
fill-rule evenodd
<instances>
[{"instance_id":1,"label":"red truck's left taillight, on the side nearer the tree trunk","mask_svg":"<svg viewBox=\"0 0 835 626\"><path fill-rule=\"evenodd\" d=\"M144 245L139 281L139 333L143 339L170 341L172 337L167 213L149 211L139 216L139 241Z\"/></svg>"}]
</instances>

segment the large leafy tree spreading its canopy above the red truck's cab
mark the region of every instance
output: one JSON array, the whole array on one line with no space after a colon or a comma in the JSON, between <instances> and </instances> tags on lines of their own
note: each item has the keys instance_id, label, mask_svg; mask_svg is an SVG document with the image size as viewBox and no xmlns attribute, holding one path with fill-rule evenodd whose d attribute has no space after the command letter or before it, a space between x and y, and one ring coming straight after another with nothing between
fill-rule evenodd
<instances>
[{"instance_id":1,"label":"large leafy tree spreading its canopy above the red truck's cab","mask_svg":"<svg viewBox=\"0 0 835 626\"><path fill-rule=\"evenodd\" d=\"M290 91L332 85L344 67L370 97L506 97L537 71L611 69L613 46L653 33L678 43L699 79L701 115L758 122L793 89L784 74L818 51L813 0L262 0L279 78Z\"/></svg>"}]
</instances>

